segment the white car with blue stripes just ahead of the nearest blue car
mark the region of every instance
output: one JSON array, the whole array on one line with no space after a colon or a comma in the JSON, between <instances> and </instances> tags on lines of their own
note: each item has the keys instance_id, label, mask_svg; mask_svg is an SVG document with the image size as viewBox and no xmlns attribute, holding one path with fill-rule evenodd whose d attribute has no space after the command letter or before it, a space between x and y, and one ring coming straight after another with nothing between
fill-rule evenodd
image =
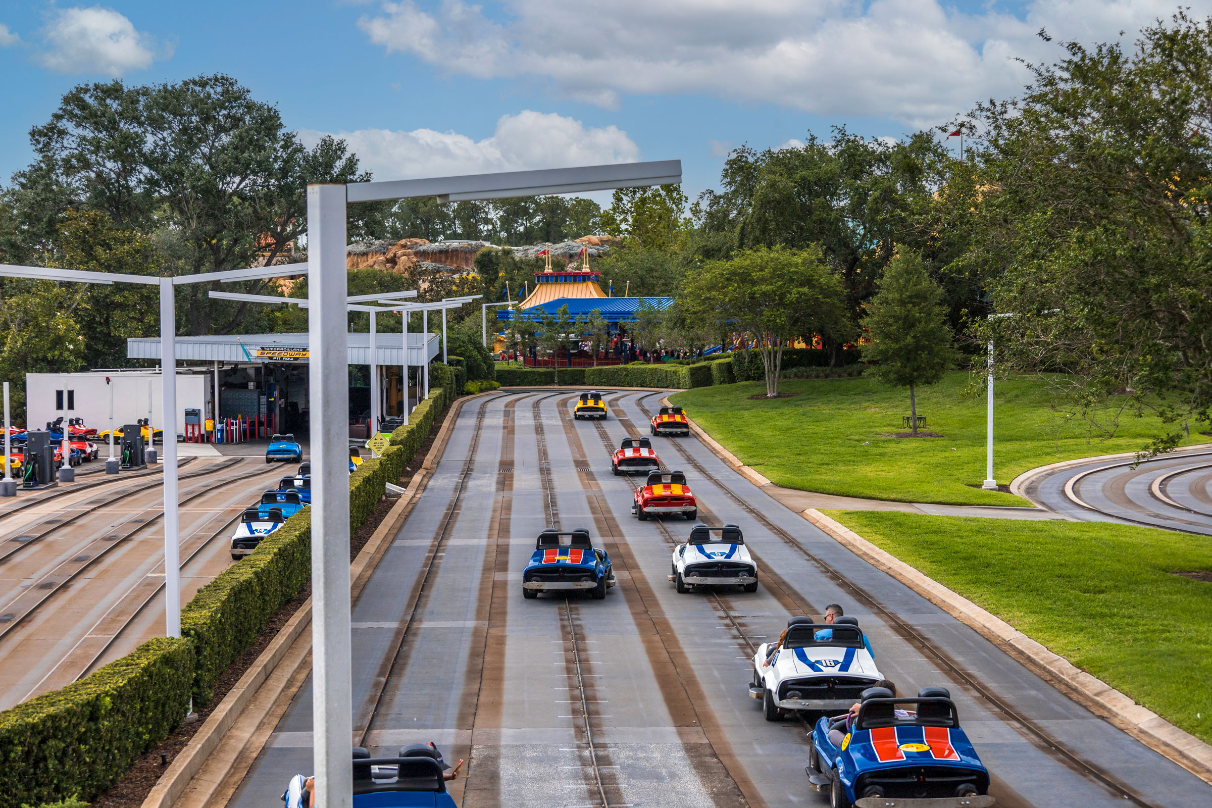
<instances>
[{"instance_id":1,"label":"white car with blue stripes just ahead of the nearest blue car","mask_svg":"<svg viewBox=\"0 0 1212 808\"><path fill-rule=\"evenodd\" d=\"M869 687L896 692L876 667L858 620L794 617L781 642L758 647L749 695L762 700L766 721L778 721L788 712L848 710Z\"/></svg>"}]
</instances>

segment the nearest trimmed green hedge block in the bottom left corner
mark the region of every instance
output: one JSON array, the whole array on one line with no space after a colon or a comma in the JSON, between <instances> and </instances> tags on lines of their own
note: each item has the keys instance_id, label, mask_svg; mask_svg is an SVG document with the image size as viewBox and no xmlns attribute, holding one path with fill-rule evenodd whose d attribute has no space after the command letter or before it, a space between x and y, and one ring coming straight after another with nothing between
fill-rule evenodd
<instances>
[{"instance_id":1,"label":"nearest trimmed green hedge block in the bottom left corner","mask_svg":"<svg viewBox=\"0 0 1212 808\"><path fill-rule=\"evenodd\" d=\"M193 677L190 642L158 637L0 712L0 806L92 800L181 724Z\"/></svg>"}]
</instances>

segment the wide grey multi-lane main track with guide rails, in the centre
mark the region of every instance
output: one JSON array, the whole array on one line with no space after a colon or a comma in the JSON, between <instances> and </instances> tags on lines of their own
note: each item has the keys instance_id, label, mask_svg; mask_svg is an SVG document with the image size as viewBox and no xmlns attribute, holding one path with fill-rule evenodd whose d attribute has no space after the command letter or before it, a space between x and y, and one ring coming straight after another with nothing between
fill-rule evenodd
<instances>
[{"instance_id":1,"label":"wide grey multi-lane main track with guide rails, in the centre","mask_svg":"<svg viewBox=\"0 0 1212 808\"><path fill-rule=\"evenodd\" d=\"M354 604L353 740L384 755L435 741L468 758L464 808L823 806L805 729L748 697L751 647L789 614L841 603L903 693L950 688L1005 807L1188 807L1212 787L1102 721L928 601L852 555L692 437L659 439L701 518L734 522L758 592L676 595L669 543L688 523L639 522L608 446L646 434L661 394L610 395L571 419L571 391L463 408L417 506ZM628 431L628 430L631 431ZM614 563L605 601L525 601L538 532L587 527ZM276 804L311 768L310 681L231 802Z\"/></svg>"}]
</instances>

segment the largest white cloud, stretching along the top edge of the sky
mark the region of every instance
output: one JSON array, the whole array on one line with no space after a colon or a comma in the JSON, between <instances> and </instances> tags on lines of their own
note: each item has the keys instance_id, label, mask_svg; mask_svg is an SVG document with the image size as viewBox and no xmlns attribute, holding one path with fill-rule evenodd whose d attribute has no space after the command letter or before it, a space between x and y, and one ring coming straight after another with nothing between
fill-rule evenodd
<instances>
[{"instance_id":1,"label":"largest white cloud, stretching along the top edge of the sky","mask_svg":"<svg viewBox=\"0 0 1212 808\"><path fill-rule=\"evenodd\" d=\"M1212 7L1210 0L1193 6ZM1034 0L1022 18L938 0L502 0L498 22L462 0L388 0L358 25L388 53L480 79L541 76L564 96L617 108L621 94L710 93L824 115L920 126L1007 96L1014 57L1058 39L1117 40L1173 0ZM1205 10L1194 8L1195 16Z\"/></svg>"}]
</instances>

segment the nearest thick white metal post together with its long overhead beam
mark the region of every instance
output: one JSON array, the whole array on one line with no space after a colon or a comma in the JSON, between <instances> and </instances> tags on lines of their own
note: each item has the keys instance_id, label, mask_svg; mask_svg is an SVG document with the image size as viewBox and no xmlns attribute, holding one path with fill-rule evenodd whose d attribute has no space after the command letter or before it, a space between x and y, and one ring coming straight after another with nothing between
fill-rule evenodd
<instances>
[{"instance_id":1,"label":"nearest thick white metal post together with its long overhead beam","mask_svg":"<svg viewBox=\"0 0 1212 808\"><path fill-rule=\"evenodd\" d=\"M681 182L681 161L308 185L308 329L311 366L311 652L316 803L353 807L349 474L345 413L345 216L350 202L436 196L508 199ZM424 310L423 310L424 313ZM407 322L407 317L405 317ZM428 366L427 366L428 367Z\"/></svg>"}]
</instances>

